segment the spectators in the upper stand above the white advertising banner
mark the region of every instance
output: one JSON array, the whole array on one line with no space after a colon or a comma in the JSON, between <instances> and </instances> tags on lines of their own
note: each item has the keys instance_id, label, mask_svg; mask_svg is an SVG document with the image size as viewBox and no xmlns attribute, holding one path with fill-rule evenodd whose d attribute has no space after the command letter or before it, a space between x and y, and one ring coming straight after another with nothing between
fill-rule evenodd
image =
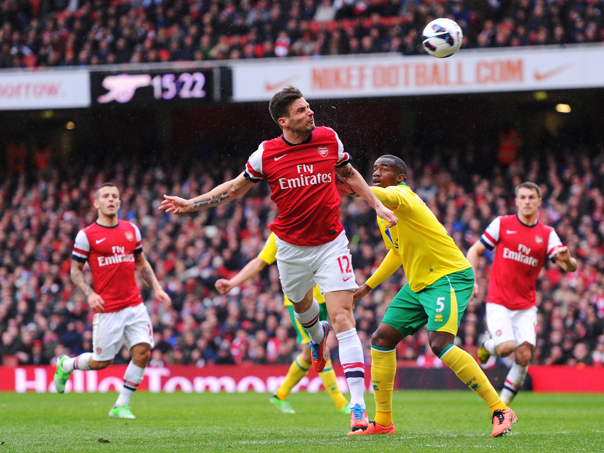
<instances>
[{"instance_id":1,"label":"spectators in the upper stand above the white advertising banner","mask_svg":"<svg viewBox=\"0 0 604 453\"><path fill-rule=\"evenodd\" d=\"M602 0L3 0L0 67L423 52L458 22L464 48L602 42Z\"/></svg>"}]
</instances>

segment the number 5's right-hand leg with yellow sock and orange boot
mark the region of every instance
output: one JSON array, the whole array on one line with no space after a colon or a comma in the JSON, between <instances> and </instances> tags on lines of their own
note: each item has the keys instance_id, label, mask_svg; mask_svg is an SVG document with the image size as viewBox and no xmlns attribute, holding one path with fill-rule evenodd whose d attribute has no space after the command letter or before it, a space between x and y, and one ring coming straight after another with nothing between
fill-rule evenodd
<instances>
[{"instance_id":1,"label":"number 5's right-hand leg with yellow sock and orange boot","mask_svg":"<svg viewBox=\"0 0 604 453\"><path fill-rule=\"evenodd\" d=\"M449 332L428 331L428 341L435 355L439 356L457 377L489 406L492 414L493 437L507 434L516 423L516 414L506 405L489 382L474 358L455 346L455 336Z\"/></svg>"}]
</instances>

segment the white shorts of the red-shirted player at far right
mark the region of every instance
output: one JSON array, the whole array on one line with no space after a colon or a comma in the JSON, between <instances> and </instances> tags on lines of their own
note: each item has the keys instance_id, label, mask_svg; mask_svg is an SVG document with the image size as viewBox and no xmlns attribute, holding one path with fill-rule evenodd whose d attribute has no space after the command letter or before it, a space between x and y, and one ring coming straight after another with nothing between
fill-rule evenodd
<instances>
[{"instance_id":1,"label":"white shorts of the red-shirted player at far right","mask_svg":"<svg viewBox=\"0 0 604 453\"><path fill-rule=\"evenodd\" d=\"M515 341L516 347L524 342L536 344L537 307L510 310L503 305L487 302L487 329L495 345Z\"/></svg>"}]
</instances>

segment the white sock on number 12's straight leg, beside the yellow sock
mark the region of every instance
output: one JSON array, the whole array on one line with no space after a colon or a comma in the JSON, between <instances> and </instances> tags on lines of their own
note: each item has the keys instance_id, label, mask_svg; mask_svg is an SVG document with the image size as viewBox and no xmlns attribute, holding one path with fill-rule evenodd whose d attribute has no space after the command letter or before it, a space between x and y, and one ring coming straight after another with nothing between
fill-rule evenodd
<instances>
[{"instance_id":1,"label":"white sock on number 12's straight leg, beside the yellow sock","mask_svg":"<svg viewBox=\"0 0 604 453\"><path fill-rule=\"evenodd\" d=\"M365 357L361 339L355 327L346 332L336 333L339 341L339 358L350 390L350 405L365 408Z\"/></svg>"}]
</instances>

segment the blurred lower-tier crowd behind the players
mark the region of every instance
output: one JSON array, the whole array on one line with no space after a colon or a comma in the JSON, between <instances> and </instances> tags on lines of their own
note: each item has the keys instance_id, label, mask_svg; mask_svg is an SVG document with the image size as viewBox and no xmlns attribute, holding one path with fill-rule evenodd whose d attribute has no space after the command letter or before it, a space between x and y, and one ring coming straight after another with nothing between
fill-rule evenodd
<instances>
[{"instance_id":1,"label":"blurred lower-tier crowd behind the players","mask_svg":"<svg viewBox=\"0 0 604 453\"><path fill-rule=\"evenodd\" d=\"M16 167L9 153L13 171L5 173L0 185L0 358L5 364L48 364L63 353L92 349L92 313L74 288L69 269L77 231L96 217L95 188L108 180L122 188L120 218L140 227L144 251L173 301L173 309L165 310L139 279L155 330L151 366L292 361L298 347L283 307L277 266L224 297L214 289L218 278L230 278L262 249L269 234L266 225L277 215L268 184L257 184L242 199L198 215L173 216L157 209L164 193L189 197L232 178L240 169L230 167L229 161L237 159L215 164L199 159L169 171L161 165L144 169L136 161L102 168L72 162L59 172L52 153L41 159L40 150L29 155L25 146L21 148L27 158ZM470 170L478 153L470 148L462 158L459 150L435 152L429 159L411 150L397 154L408 163L411 187L464 252L494 216L515 212L516 184L530 180L541 185L541 219L556 227L579 259L579 269L564 274L549 263L542 271L533 362L602 365L604 153L590 159L584 149L573 149L565 156L546 153L530 162L517 157L509 165L496 165L489 178ZM36 169L35 177L18 173L24 165ZM370 175L367 167L362 172ZM357 282L364 283L385 256L374 211L360 199L345 197L341 220L349 234ZM456 340L473 354L484 330L491 260L488 251L480 259L481 292L467 307ZM368 360L371 333L404 283L399 269L356 304ZM440 366L426 340L425 330L406 338L399 344L399 359ZM335 338L330 345L337 358ZM127 361L124 348L116 362Z\"/></svg>"}]
</instances>

